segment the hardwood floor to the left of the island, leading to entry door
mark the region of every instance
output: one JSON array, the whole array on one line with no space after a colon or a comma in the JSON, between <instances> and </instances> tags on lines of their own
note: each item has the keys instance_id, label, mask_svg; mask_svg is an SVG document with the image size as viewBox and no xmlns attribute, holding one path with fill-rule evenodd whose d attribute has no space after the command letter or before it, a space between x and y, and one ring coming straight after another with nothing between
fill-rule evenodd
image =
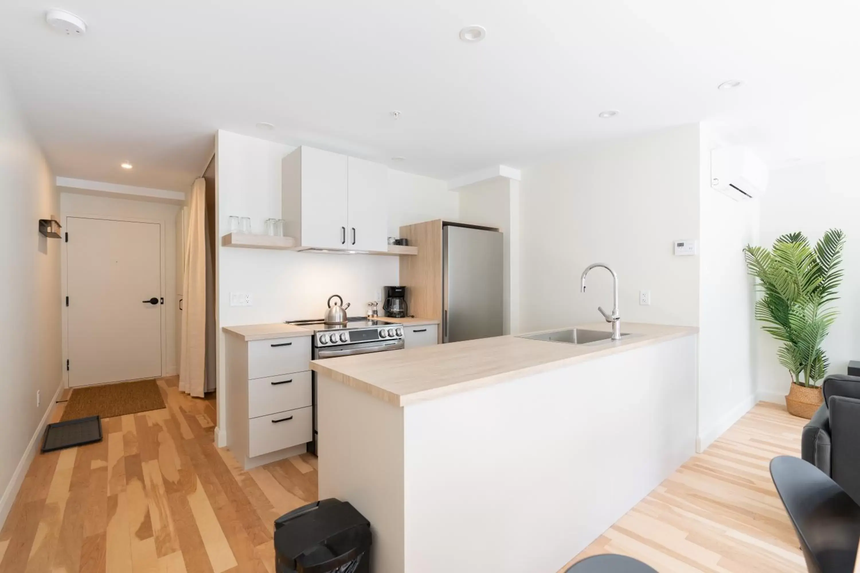
<instances>
[{"instance_id":1,"label":"hardwood floor to the left of the island, leading to entry door","mask_svg":"<svg viewBox=\"0 0 860 573\"><path fill-rule=\"evenodd\" d=\"M212 442L212 401L180 394L175 377L158 384L167 408L36 455L0 531L0 572L273 573L273 520L316 500L316 458L244 472Z\"/></svg>"}]
</instances>

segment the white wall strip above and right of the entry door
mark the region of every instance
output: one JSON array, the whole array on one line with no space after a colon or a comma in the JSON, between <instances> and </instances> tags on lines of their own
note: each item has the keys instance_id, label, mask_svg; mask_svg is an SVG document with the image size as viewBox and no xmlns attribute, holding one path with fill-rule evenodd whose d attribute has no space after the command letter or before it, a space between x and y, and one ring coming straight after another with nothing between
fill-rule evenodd
<instances>
[{"instance_id":1,"label":"white wall strip above and right of the entry door","mask_svg":"<svg viewBox=\"0 0 860 573\"><path fill-rule=\"evenodd\" d=\"M72 192L60 193L62 216L100 216L145 219L161 223L164 231L164 312L165 376L179 373L176 357L176 213L181 207L142 200L98 197ZM64 292L63 292L64 296ZM63 336L65 336L65 325ZM164 347L164 346L163 346Z\"/></svg>"}]
</instances>

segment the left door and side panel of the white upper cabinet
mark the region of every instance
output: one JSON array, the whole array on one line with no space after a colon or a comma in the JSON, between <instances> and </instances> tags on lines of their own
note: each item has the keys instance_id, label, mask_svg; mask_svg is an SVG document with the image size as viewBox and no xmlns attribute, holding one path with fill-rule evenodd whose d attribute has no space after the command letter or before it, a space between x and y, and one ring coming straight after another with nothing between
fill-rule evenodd
<instances>
[{"instance_id":1,"label":"left door and side panel of the white upper cabinet","mask_svg":"<svg viewBox=\"0 0 860 573\"><path fill-rule=\"evenodd\" d=\"M282 162L287 235L302 247L347 248L347 156L302 146Z\"/></svg>"}]
</instances>

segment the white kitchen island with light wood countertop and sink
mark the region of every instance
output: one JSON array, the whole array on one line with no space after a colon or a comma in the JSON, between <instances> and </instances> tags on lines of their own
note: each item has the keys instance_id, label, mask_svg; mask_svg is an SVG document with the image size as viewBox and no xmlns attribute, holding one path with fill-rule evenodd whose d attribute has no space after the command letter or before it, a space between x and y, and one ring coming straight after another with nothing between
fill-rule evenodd
<instances>
[{"instance_id":1,"label":"white kitchen island with light wood countertop and sink","mask_svg":"<svg viewBox=\"0 0 860 573\"><path fill-rule=\"evenodd\" d=\"M687 460L697 329L624 332L312 362L319 495L371 521L373 570L556 571Z\"/></svg>"}]
</instances>

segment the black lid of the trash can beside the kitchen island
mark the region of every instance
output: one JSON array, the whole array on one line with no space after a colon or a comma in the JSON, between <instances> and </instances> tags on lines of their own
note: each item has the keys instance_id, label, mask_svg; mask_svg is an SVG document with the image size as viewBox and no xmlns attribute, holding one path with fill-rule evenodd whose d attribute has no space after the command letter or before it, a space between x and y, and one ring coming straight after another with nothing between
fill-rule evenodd
<instances>
[{"instance_id":1,"label":"black lid of the trash can beside the kitchen island","mask_svg":"<svg viewBox=\"0 0 860 573\"><path fill-rule=\"evenodd\" d=\"M311 552L321 542L359 527L369 533L370 521L351 503L331 497L309 503L275 521L274 549L278 559L292 564L302 554ZM366 544L370 545L370 535Z\"/></svg>"}]
</instances>

